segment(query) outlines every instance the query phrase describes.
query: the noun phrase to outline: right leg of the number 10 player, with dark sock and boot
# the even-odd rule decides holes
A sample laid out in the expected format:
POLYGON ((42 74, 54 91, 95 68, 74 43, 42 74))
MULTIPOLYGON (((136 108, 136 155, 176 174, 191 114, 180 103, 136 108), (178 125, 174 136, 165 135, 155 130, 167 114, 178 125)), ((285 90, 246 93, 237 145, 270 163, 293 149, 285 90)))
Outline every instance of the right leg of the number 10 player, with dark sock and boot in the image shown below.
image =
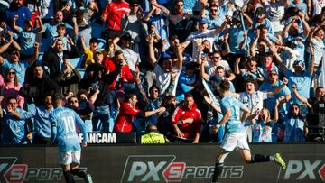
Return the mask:
POLYGON ((72 151, 72 163, 71 163, 71 173, 84 179, 86 182, 91 183, 92 178, 83 169, 79 169, 81 151, 72 151))

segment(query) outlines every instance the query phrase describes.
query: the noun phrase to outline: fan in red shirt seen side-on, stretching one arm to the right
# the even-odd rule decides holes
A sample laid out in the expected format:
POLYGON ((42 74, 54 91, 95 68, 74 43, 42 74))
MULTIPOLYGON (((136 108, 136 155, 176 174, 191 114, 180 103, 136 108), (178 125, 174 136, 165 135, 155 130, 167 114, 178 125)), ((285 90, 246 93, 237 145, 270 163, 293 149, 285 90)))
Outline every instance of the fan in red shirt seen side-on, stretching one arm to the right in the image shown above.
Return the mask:
POLYGON ((126 95, 125 103, 121 105, 120 111, 117 114, 116 124, 114 128, 115 132, 129 133, 132 130, 132 122, 135 117, 149 117, 157 113, 162 114, 166 110, 165 107, 159 107, 156 110, 144 112, 135 107, 137 102, 138 100, 135 94, 130 93, 126 95))

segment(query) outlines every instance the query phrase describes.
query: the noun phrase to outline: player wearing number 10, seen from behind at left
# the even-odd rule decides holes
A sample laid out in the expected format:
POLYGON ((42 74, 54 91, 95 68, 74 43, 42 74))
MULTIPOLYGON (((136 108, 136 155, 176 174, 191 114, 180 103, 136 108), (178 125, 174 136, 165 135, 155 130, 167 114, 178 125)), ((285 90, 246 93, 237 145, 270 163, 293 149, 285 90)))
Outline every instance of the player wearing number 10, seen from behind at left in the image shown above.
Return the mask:
POLYGON ((49 115, 49 120, 52 125, 51 142, 55 142, 56 139, 59 142, 59 160, 64 178, 68 183, 75 182, 73 175, 77 175, 88 183, 92 182, 91 176, 79 169, 81 147, 76 124, 83 134, 81 145, 87 147, 87 131, 84 122, 72 109, 63 107, 62 100, 61 96, 55 96, 52 100, 55 109, 49 115))

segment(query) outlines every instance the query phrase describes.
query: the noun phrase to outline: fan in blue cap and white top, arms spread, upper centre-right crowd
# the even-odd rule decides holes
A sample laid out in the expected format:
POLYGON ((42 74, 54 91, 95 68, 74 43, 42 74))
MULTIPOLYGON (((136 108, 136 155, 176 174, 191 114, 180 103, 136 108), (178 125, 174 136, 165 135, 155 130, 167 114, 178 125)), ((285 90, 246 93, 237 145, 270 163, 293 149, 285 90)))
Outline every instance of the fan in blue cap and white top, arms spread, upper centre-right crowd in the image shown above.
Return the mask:
POLYGON ((189 46, 190 42, 193 45, 192 58, 198 58, 200 46, 203 40, 208 40, 210 45, 213 45, 215 36, 222 32, 228 24, 228 21, 222 23, 221 27, 218 29, 208 30, 209 19, 200 18, 199 20, 199 30, 196 32, 191 32, 189 37, 186 38, 184 42, 181 43, 183 49, 189 46))

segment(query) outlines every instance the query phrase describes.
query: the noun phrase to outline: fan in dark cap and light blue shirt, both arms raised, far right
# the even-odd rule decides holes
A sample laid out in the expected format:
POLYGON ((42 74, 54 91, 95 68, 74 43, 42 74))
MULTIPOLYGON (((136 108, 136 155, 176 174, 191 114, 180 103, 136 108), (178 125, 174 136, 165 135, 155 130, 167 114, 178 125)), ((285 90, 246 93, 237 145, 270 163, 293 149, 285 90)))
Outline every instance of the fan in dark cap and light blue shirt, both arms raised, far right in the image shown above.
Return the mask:
MULTIPOLYGON (((286 68, 281 58, 277 59, 284 76, 289 80, 289 87, 296 85, 297 92, 305 98, 310 98, 311 78, 314 72, 314 51, 311 43, 309 45, 309 50, 311 53, 311 60, 309 61, 310 65, 307 70, 305 69, 305 62, 303 60, 295 60, 293 62, 294 71, 292 72, 292 70, 286 68)), ((304 106, 302 101, 294 95, 292 96, 291 104, 301 105, 302 114, 308 113, 306 106, 304 106)))

